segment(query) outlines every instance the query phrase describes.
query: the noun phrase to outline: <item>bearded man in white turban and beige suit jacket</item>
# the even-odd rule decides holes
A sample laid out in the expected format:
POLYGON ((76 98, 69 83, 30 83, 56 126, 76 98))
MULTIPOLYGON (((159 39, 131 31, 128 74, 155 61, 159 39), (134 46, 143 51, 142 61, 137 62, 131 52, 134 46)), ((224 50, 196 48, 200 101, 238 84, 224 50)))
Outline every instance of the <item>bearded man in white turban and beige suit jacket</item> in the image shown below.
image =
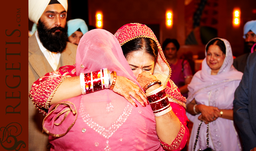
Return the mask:
MULTIPOLYGON (((46 73, 75 64, 77 45, 67 42, 66 14, 67 0, 28 0, 28 18, 38 28, 28 38, 28 92, 32 83, 46 73)), ((28 101, 28 148, 50 150, 48 135, 42 134, 44 115, 30 98, 28 101)))

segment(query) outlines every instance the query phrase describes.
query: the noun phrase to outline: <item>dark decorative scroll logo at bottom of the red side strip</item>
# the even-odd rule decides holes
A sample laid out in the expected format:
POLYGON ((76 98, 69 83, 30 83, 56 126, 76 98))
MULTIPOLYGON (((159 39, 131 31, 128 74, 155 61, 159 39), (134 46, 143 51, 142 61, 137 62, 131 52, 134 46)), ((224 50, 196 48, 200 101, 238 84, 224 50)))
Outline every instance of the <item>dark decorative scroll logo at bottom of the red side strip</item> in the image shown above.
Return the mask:
POLYGON ((20 150, 20 147, 26 147, 26 144, 22 140, 17 140, 17 136, 19 136, 22 132, 22 127, 19 123, 13 122, 8 124, 6 127, 1 127, 0 131, 3 132, 3 137, 0 138, 1 146, 5 150, 20 150))

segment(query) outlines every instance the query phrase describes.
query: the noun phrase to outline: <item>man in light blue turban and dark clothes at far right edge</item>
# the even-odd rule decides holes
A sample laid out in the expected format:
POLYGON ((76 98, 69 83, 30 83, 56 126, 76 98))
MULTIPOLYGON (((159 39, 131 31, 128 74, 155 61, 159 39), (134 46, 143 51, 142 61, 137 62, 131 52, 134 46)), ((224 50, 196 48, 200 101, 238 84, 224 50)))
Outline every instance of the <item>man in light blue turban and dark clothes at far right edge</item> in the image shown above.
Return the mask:
POLYGON ((243 38, 245 39, 245 53, 234 59, 234 67, 241 72, 244 72, 246 60, 251 52, 251 48, 256 43, 256 20, 251 20, 245 23, 243 27, 243 38))

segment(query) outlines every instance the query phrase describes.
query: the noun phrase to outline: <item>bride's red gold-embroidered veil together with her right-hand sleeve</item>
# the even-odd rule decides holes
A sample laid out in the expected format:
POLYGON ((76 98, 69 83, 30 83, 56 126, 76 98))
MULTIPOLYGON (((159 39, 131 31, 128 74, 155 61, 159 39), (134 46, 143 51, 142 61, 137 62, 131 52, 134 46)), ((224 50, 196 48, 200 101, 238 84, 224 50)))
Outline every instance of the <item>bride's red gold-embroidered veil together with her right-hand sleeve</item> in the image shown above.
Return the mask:
MULTIPOLYGON (((133 39, 140 38, 140 37, 152 39, 157 44, 158 56, 157 56, 156 61, 154 62, 153 75, 158 80, 161 81, 162 85, 164 85, 164 90, 168 96, 170 105, 172 106, 172 111, 174 112, 174 114, 177 116, 177 118, 179 119, 179 121, 182 124, 179 134, 177 135, 176 139, 173 141, 173 143, 171 145, 172 147, 168 146, 168 144, 166 144, 164 142, 161 142, 161 144, 165 149, 181 150, 185 146, 187 139, 189 137, 189 130, 187 128, 187 122, 189 120, 188 120, 187 116, 185 115, 186 98, 181 95, 178 87, 170 79, 172 70, 166 61, 166 58, 162 51, 162 48, 161 48, 155 34, 146 25, 139 24, 139 23, 131 23, 131 24, 126 24, 126 25, 122 26, 121 28, 119 28, 114 35, 117 38, 117 40, 119 41, 120 45, 122 46, 123 52, 124 52, 123 46, 125 46, 126 43, 129 43, 129 41, 132 41, 133 39)), ((128 46, 128 47, 130 47, 130 46, 128 46)), ((143 87, 143 85, 141 85, 141 87, 143 87)))

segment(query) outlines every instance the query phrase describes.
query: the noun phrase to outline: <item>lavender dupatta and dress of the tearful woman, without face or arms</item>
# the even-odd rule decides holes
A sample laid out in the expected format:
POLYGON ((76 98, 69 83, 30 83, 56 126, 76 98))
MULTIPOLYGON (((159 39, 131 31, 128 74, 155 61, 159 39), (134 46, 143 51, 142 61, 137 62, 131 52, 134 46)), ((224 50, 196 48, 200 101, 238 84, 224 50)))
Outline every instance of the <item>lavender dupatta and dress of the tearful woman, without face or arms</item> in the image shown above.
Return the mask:
MULTIPOLYGON (((195 98, 197 104, 215 106, 219 109, 233 108, 234 92, 238 87, 243 74, 237 71, 232 65, 233 56, 230 43, 226 39, 217 39, 224 41, 226 46, 226 57, 224 62, 218 74, 211 75, 211 69, 206 63, 206 58, 203 60, 202 70, 198 71, 193 76, 191 83, 188 85, 189 94, 186 104, 190 103, 195 98)), ((192 150, 194 146, 197 127, 200 122, 198 120, 199 115, 201 114, 193 116, 187 113, 189 120, 194 123, 188 150, 192 150)), ((238 139, 233 120, 217 118, 215 121, 209 123, 209 133, 209 147, 215 151, 241 150, 240 141, 238 139)), ((202 150, 206 148, 205 123, 202 123, 201 125, 199 140, 195 150, 198 150, 199 148, 202 150)))

